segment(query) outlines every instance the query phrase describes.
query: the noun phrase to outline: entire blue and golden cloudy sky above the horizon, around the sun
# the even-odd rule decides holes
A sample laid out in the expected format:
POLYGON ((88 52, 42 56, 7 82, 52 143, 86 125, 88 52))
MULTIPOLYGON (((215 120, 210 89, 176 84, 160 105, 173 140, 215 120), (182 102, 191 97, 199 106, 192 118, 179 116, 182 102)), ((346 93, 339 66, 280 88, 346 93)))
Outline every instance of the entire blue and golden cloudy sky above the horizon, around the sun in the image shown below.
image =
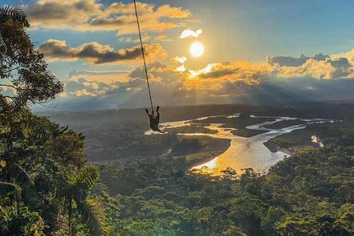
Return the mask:
MULTIPOLYGON (((0 0, 64 83, 53 107, 148 107, 132 1, 0 0)), ((354 99, 352 0, 137 2, 155 105, 354 99), (190 53, 199 42, 200 57, 190 53)), ((197 53, 198 53, 197 52, 197 53)))

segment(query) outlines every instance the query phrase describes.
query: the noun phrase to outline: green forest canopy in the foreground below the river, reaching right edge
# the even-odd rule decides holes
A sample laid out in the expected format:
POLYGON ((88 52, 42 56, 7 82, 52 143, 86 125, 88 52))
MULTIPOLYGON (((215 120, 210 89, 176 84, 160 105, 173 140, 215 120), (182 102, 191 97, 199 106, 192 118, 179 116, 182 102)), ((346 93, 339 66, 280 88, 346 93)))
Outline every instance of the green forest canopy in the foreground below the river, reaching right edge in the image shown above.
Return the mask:
POLYGON ((354 129, 343 132, 263 176, 251 168, 239 176, 231 168, 222 177, 196 175, 184 171, 185 159, 169 156, 101 165, 104 191, 96 200, 112 232, 126 236, 351 236, 354 129))

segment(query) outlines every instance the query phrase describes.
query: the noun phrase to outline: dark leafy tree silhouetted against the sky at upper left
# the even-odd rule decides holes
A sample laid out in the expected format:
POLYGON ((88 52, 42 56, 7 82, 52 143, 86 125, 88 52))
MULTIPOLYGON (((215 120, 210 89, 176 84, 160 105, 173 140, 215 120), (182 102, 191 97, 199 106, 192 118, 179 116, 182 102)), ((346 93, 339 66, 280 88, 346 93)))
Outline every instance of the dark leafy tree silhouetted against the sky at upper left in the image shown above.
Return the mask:
POLYGON ((26 14, 17 8, 0 8, 0 111, 46 103, 63 91, 47 72, 44 55, 34 49, 25 28, 26 14), (6 89, 5 89, 6 88, 6 89))

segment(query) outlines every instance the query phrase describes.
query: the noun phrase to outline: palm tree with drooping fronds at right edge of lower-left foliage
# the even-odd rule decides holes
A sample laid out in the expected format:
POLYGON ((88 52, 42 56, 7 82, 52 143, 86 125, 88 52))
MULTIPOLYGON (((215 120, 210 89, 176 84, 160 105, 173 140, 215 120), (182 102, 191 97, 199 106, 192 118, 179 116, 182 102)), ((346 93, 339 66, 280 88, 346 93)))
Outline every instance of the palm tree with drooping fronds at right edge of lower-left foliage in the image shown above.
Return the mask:
POLYGON ((61 170, 58 173, 58 188, 56 200, 68 210, 68 236, 73 236, 72 218, 74 205, 81 219, 88 226, 92 236, 107 236, 108 231, 104 225, 104 215, 92 200, 88 198, 89 190, 99 177, 96 166, 82 168, 76 173, 61 170))

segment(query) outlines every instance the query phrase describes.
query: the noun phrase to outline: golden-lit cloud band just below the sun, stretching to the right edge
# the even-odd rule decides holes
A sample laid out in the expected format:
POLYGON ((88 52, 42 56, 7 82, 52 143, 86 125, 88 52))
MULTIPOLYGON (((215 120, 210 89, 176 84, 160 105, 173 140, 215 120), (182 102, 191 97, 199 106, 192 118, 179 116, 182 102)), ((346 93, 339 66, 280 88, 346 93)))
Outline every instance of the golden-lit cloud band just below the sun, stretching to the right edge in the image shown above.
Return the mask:
MULTIPOLYGON (((178 66, 169 66, 158 61, 149 63, 148 77, 151 82, 159 85, 175 85, 179 92, 181 90, 190 92, 199 91, 202 93, 207 92, 210 96, 224 96, 235 92, 227 88, 231 85, 237 85, 238 88, 242 87, 246 89, 249 88, 248 86, 267 85, 270 81, 283 85, 289 79, 294 79, 294 81, 296 79, 300 81, 300 78, 329 80, 350 78, 353 76, 353 65, 347 58, 339 57, 332 59, 326 56, 324 60, 321 60, 324 56, 320 57, 319 55, 321 54, 311 57, 298 57, 309 58, 299 66, 280 66, 278 63, 269 63, 269 60, 267 60, 267 63, 251 63, 249 61, 236 60, 209 63, 199 69, 189 68, 186 64, 186 57, 176 56, 171 60, 179 64, 178 66), (319 60, 315 60, 314 58, 319 60)), ((289 59, 287 60, 290 61, 289 59)), ((293 62, 290 64, 293 64, 293 62)), ((145 70, 142 66, 134 68, 130 73, 124 74, 124 76, 128 78, 126 81, 139 79, 145 83, 146 80, 145 70)), ((144 83, 141 89, 144 89, 144 83)), ((292 86, 295 86, 295 84, 292 86)), ((302 89, 314 91, 316 87, 307 84, 303 85, 302 89)), ((236 91, 237 93, 242 92, 239 89, 236 91)))

